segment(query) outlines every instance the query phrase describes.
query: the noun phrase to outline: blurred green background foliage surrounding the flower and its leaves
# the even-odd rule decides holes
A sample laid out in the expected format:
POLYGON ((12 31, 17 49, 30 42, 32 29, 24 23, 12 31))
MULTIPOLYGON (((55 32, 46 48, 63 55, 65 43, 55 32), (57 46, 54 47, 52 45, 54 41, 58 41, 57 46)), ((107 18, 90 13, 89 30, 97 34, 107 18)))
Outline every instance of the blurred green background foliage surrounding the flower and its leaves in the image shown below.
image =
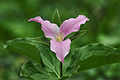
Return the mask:
MULTIPOLYGON (((87 33, 72 43, 74 48, 99 42, 120 49, 120 0, 0 0, 0 42, 43 35, 40 24, 27 20, 41 16, 52 21, 55 9, 62 22, 79 14, 90 19, 81 26, 87 33)), ((0 80, 20 80, 25 61, 22 55, 0 53, 0 80)), ((74 80, 120 80, 120 63, 82 72, 74 80)))

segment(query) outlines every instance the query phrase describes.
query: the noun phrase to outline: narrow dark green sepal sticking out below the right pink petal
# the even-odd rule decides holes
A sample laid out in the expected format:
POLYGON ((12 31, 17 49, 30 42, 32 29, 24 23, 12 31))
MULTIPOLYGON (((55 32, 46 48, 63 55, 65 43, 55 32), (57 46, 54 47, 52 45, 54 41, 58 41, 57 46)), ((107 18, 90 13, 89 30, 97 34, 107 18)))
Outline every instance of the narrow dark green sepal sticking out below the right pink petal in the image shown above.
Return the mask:
POLYGON ((75 40, 76 38, 81 37, 87 32, 87 30, 79 30, 78 32, 74 32, 69 34, 65 39, 70 38, 71 40, 75 40))

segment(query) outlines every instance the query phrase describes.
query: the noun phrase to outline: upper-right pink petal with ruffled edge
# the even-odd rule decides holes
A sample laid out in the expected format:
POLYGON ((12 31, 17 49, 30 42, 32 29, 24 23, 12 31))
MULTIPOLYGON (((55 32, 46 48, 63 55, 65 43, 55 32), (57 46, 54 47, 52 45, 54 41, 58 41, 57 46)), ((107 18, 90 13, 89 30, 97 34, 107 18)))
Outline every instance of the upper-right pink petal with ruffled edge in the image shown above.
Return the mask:
POLYGON ((72 33, 77 32, 80 29, 80 25, 84 24, 89 19, 84 15, 79 15, 77 18, 70 18, 65 20, 60 26, 60 32, 64 33, 64 38, 72 33))

